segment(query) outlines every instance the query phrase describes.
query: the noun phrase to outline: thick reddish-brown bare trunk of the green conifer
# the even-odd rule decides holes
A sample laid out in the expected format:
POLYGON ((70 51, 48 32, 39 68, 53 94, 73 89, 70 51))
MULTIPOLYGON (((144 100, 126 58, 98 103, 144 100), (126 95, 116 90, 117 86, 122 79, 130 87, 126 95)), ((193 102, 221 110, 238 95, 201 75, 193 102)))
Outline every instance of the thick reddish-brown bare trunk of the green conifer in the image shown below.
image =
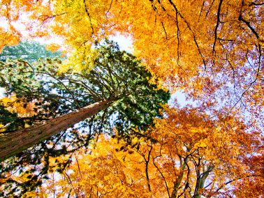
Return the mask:
POLYGON ((15 132, 0 134, 0 162, 52 137, 52 135, 56 135, 62 130, 66 130, 75 123, 97 114, 101 110, 109 107, 112 101, 113 100, 103 100, 95 102, 75 112, 51 119, 46 123, 33 125, 30 128, 17 130, 15 132))

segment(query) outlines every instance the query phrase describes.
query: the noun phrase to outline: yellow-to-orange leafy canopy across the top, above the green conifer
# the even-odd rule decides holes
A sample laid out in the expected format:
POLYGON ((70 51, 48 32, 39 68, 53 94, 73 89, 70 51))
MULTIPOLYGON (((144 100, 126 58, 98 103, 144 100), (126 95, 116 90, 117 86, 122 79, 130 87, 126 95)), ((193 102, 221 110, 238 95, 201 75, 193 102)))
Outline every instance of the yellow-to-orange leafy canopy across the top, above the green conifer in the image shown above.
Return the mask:
POLYGON ((226 112, 262 112, 261 1, 5 1, 10 44, 21 37, 15 28, 20 6, 28 12, 29 36, 59 36, 75 59, 101 38, 122 33, 168 88, 210 101, 214 109, 221 101, 226 112))

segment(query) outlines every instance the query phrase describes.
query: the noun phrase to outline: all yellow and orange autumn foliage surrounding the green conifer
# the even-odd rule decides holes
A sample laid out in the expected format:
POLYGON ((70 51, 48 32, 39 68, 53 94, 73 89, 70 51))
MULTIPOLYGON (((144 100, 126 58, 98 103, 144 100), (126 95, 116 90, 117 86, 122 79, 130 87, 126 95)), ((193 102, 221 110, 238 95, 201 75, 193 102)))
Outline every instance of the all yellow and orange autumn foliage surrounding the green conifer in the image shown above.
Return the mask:
MULTIPOLYGON (((6 0, 0 20, 0 51, 25 38, 59 40, 47 46, 67 54, 56 75, 90 71, 98 43, 129 37, 149 82, 193 103, 171 102, 144 131, 97 135, 27 196, 263 196, 263 1, 6 0)), ((31 105, 13 104, 17 114, 31 105)))

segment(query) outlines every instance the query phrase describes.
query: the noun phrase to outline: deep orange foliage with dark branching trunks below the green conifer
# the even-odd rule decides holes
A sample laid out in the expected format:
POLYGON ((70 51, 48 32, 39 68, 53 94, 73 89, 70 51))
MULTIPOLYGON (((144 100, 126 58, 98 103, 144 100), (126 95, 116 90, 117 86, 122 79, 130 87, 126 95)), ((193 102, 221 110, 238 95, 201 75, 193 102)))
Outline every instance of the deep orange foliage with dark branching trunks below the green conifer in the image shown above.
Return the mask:
POLYGON ((199 108, 166 107, 151 137, 124 142, 106 135, 75 153, 63 174, 50 174, 33 195, 75 197, 258 197, 263 195, 259 132, 234 117, 210 119, 199 108), (187 184, 188 183, 188 184, 187 184))

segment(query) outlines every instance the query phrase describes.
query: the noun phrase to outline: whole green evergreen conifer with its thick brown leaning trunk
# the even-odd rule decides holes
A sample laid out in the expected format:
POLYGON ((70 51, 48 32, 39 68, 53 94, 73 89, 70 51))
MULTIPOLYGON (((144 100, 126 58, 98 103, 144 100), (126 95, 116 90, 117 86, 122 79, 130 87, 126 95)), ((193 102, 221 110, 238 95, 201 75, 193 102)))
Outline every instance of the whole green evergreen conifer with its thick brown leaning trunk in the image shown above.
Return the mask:
POLYGON ((129 137, 145 135, 133 129, 144 131, 159 116, 161 104, 170 95, 149 84, 152 75, 140 61, 110 41, 96 46, 95 52, 92 70, 87 66, 82 71, 60 73, 58 59, 1 63, 0 86, 6 89, 6 96, 15 94, 21 105, 33 102, 35 106, 34 115, 25 118, 10 112, 12 103, 9 107, 1 105, 0 121, 6 128, 0 135, 0 153, 12 150, 13 139, 21 144, 16 151, 1 155, 1 160, 14 155, 1 163, 2 195, 22 195, 36 189, 50 169, 61 172, 78 148, 88 146, 102 132, 111 134, 114 127, 131 144, 129 137), (95 111, 84 112, 95 106, 95 111), (57 127, 61 123, 66 125, 57 127), (39 137, 35 129, 43 126, 38 133, 45 135, 39 137), (27 144, 29 139, 34 141, 27 144), (50 164, 58 156, 64 157, 50 164), (14 172, 26 174, 27 179, 18 182, 7 174, 14 172))

